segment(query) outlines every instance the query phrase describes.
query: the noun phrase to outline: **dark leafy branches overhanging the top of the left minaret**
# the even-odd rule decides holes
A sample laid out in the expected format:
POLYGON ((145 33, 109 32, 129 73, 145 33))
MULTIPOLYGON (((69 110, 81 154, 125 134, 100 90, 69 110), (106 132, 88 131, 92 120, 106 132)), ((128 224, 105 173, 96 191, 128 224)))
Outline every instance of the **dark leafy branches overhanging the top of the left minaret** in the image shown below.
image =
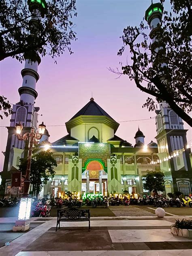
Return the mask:
POLYGON ((70 48, 72 40, 76 40, 73 31, 73 16, 77 16, 75 0, 41 0, 43 18, 31 13, 28 4, 38 4, 37 0, 1 0, 0 9, 0 60, 7 57, 38 60, 46 54, 52 58, 70 48), (36 22, 29 22, 30 19, 36 22), (35 31, 35 33, 34 33, 35 31), (35 36, 37 35, 37 36, 35 36))

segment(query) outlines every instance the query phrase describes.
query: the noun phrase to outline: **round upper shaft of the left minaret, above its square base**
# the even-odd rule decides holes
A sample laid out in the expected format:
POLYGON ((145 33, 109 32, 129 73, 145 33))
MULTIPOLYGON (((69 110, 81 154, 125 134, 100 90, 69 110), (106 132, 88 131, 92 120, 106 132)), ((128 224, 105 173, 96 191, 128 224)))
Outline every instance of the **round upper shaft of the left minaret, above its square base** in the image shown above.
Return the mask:
MULTIPOLYGON (((34 17, 32 17, 32 19, 29 21, 30 27, 32 28, 35 22, 41 22, 41 18, 44 16, 46 10, 46 2, 45 0, 28 0, 28 6, 32 16, 34 14, 34 17)), ((30 38, 33 38, 33 36, 38 35, 35 31, 32 30, 29 36, 30 38)), ((21 70, 23 83, 18 91, 20 95, 20 101, 23 102, 23 104, 34 104, 34 100, 38 96, 38 93, 36 92, 36 82, 39 79, 37 70, 38 65, 41 62, 41 58, 36 52, 32 54, 36 54, 38 60, 36 62, 31 62, 28 60, 28 56, 26 54, 25 67, 21 70)))

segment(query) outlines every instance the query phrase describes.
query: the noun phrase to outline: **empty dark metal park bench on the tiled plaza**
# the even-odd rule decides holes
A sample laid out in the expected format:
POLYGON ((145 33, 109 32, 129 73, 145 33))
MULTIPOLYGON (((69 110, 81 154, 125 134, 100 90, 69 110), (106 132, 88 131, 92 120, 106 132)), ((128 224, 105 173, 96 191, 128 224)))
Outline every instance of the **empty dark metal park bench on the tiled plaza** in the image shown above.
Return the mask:
POLYGON ((81 222, 81 221, 88 221, 89 222, 89 231, 90 227, 90 209, 77 209, 77 208, 70 208, 70 209, 58 209, 58 217, 57 217, 57 226, 56 230, 60 228, 60 222, 81 222))

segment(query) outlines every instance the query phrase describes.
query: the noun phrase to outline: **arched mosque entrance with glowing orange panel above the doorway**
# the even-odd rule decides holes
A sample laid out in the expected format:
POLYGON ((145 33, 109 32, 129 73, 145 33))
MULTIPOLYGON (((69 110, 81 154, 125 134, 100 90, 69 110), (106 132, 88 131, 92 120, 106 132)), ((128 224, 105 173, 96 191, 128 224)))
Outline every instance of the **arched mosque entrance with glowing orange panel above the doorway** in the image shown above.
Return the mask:
POLYGON ((104 194, 107 191, 104 167, 98 160, 91 160, 86 165, 86 192, 91 194, 104 194), (103 178, 103 179, 102 179, 103 178))

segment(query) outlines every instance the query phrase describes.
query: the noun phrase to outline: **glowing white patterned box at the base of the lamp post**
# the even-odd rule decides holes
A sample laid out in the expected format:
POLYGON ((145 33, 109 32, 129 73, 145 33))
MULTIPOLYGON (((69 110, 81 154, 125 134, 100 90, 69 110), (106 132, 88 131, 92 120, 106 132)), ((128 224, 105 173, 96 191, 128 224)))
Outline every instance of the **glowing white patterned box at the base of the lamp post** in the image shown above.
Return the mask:
POLYGON ((31 200, 30 197, 21 198, 19 205, 19 217, 18 220, 29 220, 31 211, 31 200))

